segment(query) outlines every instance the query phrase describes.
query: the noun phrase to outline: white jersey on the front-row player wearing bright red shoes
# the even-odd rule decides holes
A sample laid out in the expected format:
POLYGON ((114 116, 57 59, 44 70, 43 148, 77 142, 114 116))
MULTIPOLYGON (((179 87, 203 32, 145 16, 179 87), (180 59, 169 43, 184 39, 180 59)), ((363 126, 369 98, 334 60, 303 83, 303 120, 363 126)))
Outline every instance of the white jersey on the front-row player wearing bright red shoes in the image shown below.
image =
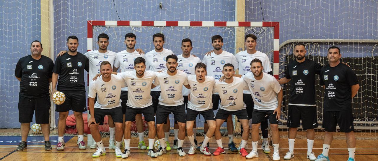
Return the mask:
POLYGON ((246 105, 243 102, 243 90, 248 89, 248 85, 243 78, 234 77, 234 81, 230 84, 216 81, 213 90, 219 93, 221 100, 219 104, 220 109, 238 111, 246 109, 246 105))

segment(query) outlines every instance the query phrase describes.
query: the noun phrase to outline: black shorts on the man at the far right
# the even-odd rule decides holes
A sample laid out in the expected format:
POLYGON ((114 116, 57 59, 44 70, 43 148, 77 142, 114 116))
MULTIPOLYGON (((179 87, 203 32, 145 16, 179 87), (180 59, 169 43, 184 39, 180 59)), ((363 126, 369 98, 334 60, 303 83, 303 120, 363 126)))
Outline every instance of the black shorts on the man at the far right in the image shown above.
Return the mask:
POLYGON ((323 111, 322 128, 328 132, 336 131, 339 125, 341 132, 354 131, 352 109, 344 111, 323 111))

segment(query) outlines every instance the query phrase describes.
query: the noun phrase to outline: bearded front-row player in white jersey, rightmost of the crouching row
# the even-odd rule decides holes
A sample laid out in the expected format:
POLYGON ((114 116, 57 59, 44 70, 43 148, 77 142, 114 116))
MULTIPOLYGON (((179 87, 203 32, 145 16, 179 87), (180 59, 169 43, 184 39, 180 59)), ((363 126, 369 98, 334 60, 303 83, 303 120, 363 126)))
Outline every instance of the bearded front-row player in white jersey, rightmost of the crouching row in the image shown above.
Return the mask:
POLYGON ((263 66, 260 59, 251 61, 251 72, 245 74, 243 79, 248 84, 249 91, 254 101, 252 112, 252 151, 247 159, 259 157, 257 144, 259 143, 259 126, 268 115, 273 140, 273 160, 279 160, 279 131, 278 119, 281 113, 283 91, 274 76, 262 72, 263 66))

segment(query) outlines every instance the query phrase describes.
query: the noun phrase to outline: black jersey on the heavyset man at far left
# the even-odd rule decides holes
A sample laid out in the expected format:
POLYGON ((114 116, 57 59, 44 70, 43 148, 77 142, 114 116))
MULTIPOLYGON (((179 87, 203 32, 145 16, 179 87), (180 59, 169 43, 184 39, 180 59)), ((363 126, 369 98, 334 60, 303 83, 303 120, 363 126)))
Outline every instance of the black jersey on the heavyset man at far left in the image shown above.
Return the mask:
POLYGON ((14 75, 21 78, 20 96, 39 98, 49 95, 50 82, 54 62, 42 55, 39 60, 31 55, 22 57, 16 65, 14 75))

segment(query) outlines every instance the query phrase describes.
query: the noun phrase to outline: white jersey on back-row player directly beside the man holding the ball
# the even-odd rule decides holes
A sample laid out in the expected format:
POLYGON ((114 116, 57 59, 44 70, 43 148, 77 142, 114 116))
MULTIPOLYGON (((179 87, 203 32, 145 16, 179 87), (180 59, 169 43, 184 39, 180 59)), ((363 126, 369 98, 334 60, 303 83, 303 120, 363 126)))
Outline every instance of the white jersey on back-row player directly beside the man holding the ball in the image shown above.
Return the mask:
MULTIPOLYGON (((93 79, 96 74, 100 73, 100 65, 103 61, 110 62, 110 65, 114 65, 117 53, 107 50, 105 53, 100 53, 98 50, 91 50, 84 54, 89 59, 89 80, 93 79)), ((119 66, 115 66, 119 67, 119 66)))

